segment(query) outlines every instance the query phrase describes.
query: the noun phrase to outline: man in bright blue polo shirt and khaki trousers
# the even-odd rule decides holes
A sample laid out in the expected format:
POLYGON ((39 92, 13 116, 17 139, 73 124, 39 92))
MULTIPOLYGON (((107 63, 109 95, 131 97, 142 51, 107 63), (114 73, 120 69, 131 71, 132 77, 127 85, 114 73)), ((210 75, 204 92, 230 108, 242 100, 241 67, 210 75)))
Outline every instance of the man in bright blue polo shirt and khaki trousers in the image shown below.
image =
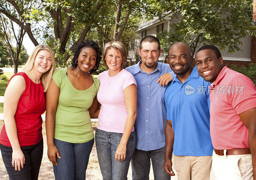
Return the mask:
POLYGON ((165 91, 164 170, 178 179, 210 179, 212 141, 210 137, 209 82, 190 64, 191 50, 186 43, 174 43, 169 51, 170 67, 177 75, 165 91))

